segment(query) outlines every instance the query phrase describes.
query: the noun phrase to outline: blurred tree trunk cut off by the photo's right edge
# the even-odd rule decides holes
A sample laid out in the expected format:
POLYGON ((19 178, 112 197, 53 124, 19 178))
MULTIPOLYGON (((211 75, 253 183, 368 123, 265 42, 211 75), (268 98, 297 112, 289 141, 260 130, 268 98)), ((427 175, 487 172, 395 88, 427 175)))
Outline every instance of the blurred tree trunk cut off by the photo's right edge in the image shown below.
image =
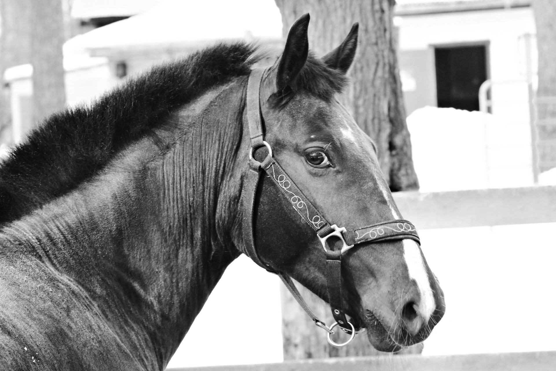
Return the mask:
POLYGON ((556 2, 533 0, 539 51, 537 90, 538 165, 540 171, 556 167, 556 2))

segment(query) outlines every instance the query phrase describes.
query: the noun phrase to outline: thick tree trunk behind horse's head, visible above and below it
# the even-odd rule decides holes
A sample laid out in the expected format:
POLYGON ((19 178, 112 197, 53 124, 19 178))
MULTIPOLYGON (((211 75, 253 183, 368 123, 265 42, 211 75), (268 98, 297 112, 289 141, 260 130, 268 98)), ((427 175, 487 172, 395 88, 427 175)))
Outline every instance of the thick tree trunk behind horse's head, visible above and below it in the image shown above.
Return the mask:
MULTIPOLYGON (((284 37, 297 18, 311 14, 309 46, 317 55, 325 55, 337 47, 351 25, 359 22, 358 55, 350 69, 351 85, 341 97, 342 103, 375 141, 380 167, 390 189, 418 189, 396 56, 392 24, 394 0, 275 1, 282 14, 284 37)), ((309 290, 298 287, 317 316, 327 324, 333 323, 330 307, 309 290)), ((326 341, 324 330, 315 326, 285 287, 281 290, 284 359, 380 353, 371 347, 365 334, 357 335, 347 347, 332 347, 326 341)), ((420 353, 422 349, 422 345, 417 345, 402 353, 420 353)))

